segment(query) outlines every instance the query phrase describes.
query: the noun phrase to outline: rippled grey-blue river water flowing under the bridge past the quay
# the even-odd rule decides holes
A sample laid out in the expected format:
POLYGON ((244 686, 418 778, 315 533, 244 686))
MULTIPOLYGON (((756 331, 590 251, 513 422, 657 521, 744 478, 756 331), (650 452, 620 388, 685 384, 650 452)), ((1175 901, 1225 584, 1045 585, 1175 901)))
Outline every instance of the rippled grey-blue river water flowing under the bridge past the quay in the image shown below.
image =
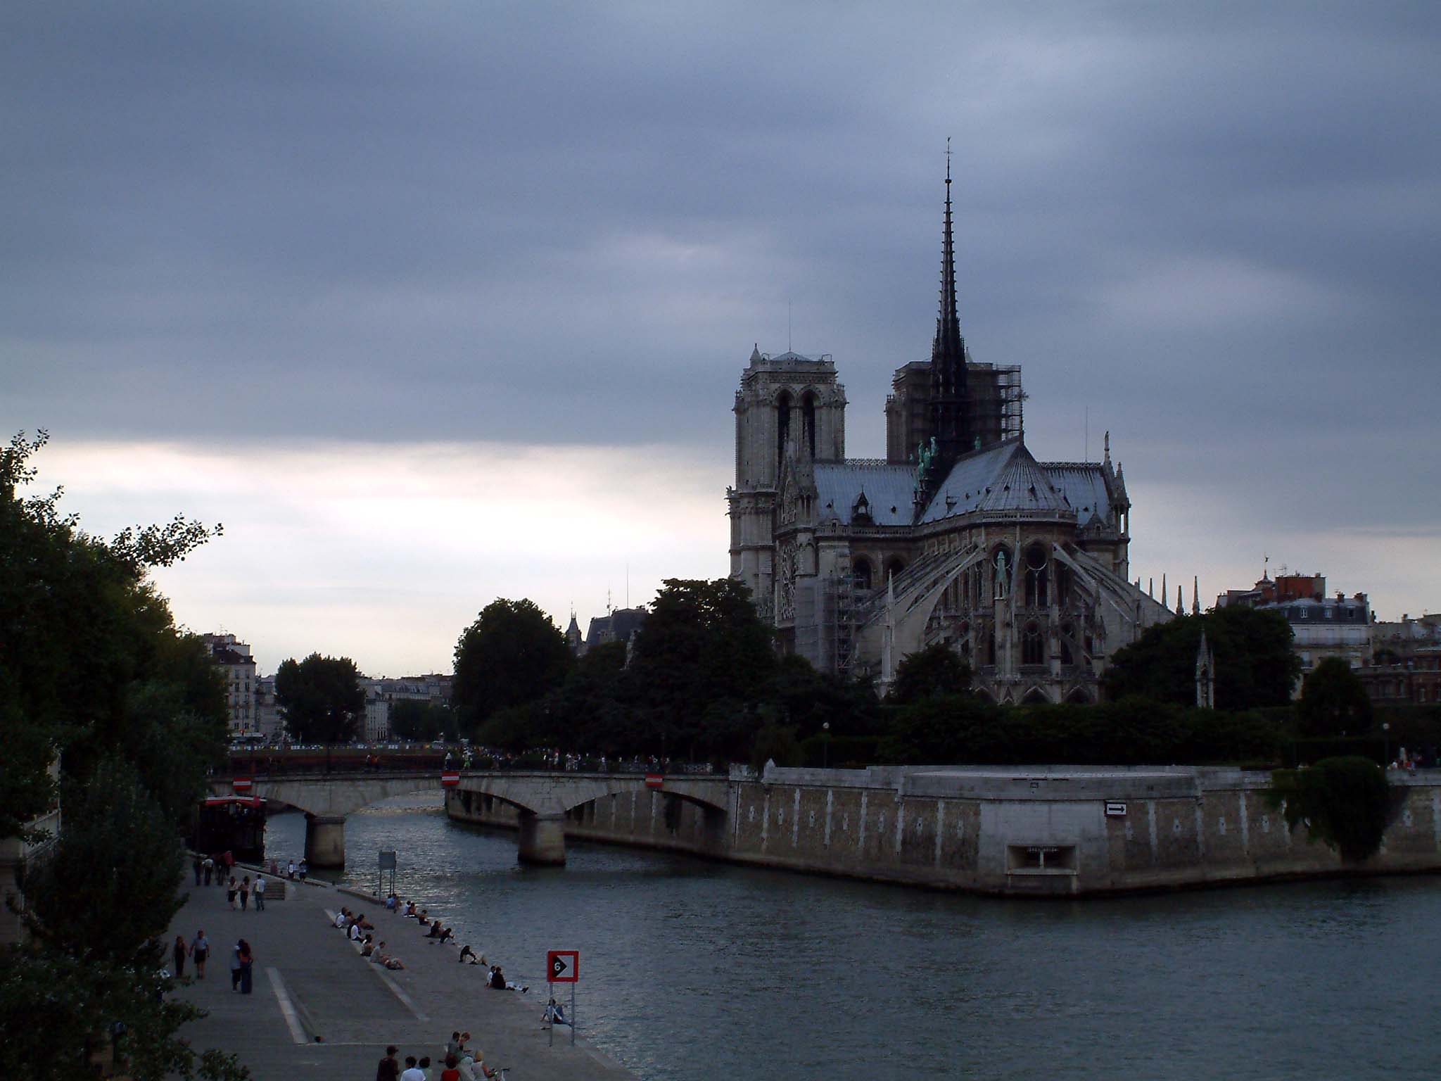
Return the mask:
MULTIPOLYGON (((298 856, 304 817, 267 840, 298 856)), ((370 888, 396 849, 399 892, 532 995, 579 950, 582 1035, 656 1081, 1441 1075, 1438 879, 1016 902, 578 843, 519 869, 432 797, 346 846, 370 888)))

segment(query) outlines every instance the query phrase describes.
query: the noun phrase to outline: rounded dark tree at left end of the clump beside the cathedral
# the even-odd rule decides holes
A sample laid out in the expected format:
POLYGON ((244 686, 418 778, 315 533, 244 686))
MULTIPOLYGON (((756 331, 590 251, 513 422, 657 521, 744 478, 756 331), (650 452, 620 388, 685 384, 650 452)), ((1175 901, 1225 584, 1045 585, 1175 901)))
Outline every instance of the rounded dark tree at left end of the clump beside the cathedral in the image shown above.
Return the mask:
POLYGON ((496 598, 455 643, 452 700, 465 731, 497 709, 526 705, 561 686, 571 649, 533 601, 496 598))

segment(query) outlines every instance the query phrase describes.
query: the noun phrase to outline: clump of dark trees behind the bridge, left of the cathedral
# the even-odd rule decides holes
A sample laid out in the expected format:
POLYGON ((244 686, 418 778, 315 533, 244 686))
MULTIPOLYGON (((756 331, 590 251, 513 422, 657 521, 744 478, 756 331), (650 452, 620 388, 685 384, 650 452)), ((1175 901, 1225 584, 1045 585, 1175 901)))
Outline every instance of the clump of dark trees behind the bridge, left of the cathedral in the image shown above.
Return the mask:
POLYGON ((509 751, 722 762, 749 758, 768 728, 873 735, 879 718, 869 685, 778 657, 729 578, 667 579, 630 650, 579 660, 532 601, 493 601, 455 644, 454 702, 464 731, 509 751))

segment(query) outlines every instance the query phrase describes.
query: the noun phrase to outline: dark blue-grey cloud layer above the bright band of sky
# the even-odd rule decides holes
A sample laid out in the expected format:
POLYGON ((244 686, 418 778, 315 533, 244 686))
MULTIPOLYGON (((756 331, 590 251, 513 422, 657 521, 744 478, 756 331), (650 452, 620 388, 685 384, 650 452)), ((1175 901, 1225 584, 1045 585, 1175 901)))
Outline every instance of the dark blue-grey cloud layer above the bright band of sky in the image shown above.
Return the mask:
POLYGON ((1089 408, 1172 480, 1401 513, 1368 479, 1441 405, 1441 16, 1262 9, 9 4, 0 414, 726 454, 790 301, 876 453, 954 135, 963 326, 1038 453, 1089 408))

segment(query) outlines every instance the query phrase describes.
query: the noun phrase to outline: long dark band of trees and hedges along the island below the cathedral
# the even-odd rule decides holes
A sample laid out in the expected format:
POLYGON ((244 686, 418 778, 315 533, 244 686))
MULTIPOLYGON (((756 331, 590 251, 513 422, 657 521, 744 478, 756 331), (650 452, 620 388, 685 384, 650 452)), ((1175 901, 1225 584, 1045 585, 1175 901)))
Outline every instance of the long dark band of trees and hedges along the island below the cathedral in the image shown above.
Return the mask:
MULTIPOLYGON (((1284 620, 1235 608, 1173 620, 1118 650, 1098 705, 994 705, 945 646, 902 660, 880 700, 869 682, 778 656, 744 585, 672 579, 630 647, 605 643, 579 660, 530 601, 487 605, 455 647, 455 721, 522 757, 553 748, 716 765, 1380 761, 1380 718, 1340 667, 1319 666, 1293 705, 1298 662, 1284 620), (1195 708, 1202 633, 1219 709, 1195 708)), ((1418 748, 1435 742, 1419 718, 1402 728, 1418 748)))

